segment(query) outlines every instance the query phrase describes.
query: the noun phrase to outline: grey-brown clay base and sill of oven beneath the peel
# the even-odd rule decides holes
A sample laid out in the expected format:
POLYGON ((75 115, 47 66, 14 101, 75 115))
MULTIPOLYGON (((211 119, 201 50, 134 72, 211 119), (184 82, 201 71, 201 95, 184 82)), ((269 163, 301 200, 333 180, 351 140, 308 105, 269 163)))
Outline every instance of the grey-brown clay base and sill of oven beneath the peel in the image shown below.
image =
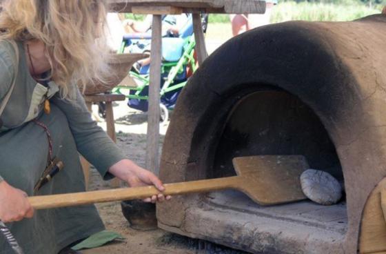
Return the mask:
POLYGON ((233 190, 192 202, 199 204, 185 210, 181 227, 161 222, 159 227, 252 253, 343 253, 345 204, 296 202, 264 207, 233 190))

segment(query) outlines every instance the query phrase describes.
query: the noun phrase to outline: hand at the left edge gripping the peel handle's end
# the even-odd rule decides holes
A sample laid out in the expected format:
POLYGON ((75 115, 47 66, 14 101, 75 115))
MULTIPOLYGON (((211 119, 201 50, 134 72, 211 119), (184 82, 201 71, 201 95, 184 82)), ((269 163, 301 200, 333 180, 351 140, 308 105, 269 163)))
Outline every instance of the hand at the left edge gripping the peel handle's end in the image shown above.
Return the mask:
POLYGON ((34 208, 27 199, 27 193, 13 188, 6 181, 0 182, 0 219, 2 222, 17 222, 32 218, 34 208))

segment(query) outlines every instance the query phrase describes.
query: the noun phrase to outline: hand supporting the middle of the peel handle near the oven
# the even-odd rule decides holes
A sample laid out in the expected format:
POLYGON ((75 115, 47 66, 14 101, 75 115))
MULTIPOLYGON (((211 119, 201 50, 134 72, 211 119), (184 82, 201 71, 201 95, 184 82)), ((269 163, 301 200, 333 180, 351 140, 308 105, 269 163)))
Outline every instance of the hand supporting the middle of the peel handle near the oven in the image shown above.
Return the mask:
MULTIPOLYGON (((119 179, 127 182, 130 187, 140 187, 154 185, 159 191, 165 190, 161 180, 153 173, 140 166, 134 164, 130 159, 122 159, 116 164, 112 165, 109 169, 112 175, 115 175, 119 179)), ((162 193, 143 199, 144 202, 162 202, 165 199, 171 199, 171 196, 164 196, 162 193)))

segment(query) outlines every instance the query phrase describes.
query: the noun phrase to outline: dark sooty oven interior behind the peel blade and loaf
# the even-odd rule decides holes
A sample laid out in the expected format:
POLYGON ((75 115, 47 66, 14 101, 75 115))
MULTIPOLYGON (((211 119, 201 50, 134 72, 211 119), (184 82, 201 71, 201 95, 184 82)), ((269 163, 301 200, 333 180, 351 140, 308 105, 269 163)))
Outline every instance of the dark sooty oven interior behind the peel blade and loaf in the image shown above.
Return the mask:
POLYGON ((227 92, 197 124, 188 164, 198 166, 199 172, 187 168, 186 179, 234 175, 233 157, 304 155, 310 168, 325 170, 343 182, 334 142, 302 99, 266 84, 235 87, 237 91, 227 92))

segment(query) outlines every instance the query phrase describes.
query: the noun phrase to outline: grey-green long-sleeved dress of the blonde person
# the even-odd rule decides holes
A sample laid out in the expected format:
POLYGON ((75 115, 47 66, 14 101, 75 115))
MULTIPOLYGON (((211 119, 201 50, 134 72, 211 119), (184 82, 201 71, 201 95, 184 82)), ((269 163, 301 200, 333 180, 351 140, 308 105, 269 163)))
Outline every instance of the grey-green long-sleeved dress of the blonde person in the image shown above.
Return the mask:
MULTIPOLYGON (((79 153, 93 164, 104 179, 112 178, 108 168, 125 156, 90 117, 78 91, 76 101, 61 99, 53 82, 37 84, 28 72, 26 52, 19 47, 19 64, 8 41, 0 41, 0 104, 16 78, 16 85, 1 115, 0 176, 15 188, 33 195, 34 185, 43 173, 48 158, 48 126, 53 141, 53 155, 64 168, 35 195, 79 192, 85 182, 79 153), (16 66, 18 65, 18 66, 16 66), (17 77, 16 68, 19 68, 17 77), (43 113, 43 101, 50 98, 51 113, 43 113), (78 153, 79 152, 79 153, 78 153)), ((1 206, 1 204, 0 204, 1 206)), ((7 224, 25 253, 58 253, 61 248, 102 231, 104 226, 91 205, 35 211, 32 219, 7 224)), ((0 235, 0 253, 14 253, 0 235)))

